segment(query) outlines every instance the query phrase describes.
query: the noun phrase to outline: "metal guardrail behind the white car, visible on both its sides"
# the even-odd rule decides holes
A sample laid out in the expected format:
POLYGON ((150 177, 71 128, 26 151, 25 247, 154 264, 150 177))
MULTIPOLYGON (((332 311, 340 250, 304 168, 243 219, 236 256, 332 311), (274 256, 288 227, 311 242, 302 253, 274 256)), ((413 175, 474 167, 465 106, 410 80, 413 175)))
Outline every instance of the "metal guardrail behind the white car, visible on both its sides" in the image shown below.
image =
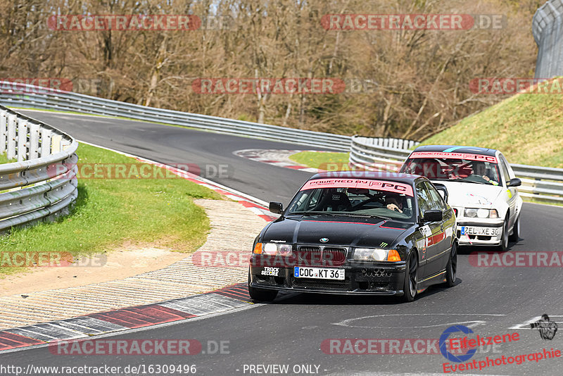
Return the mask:
MULTIPOLYGON (((374 146, 367 137, 352 137, 350 166, 365 170, 398 171, 410 150, 374 146)), ((522 181, 520 195, 547 203, 563 203, 563 168, 511 164, 522 181)))

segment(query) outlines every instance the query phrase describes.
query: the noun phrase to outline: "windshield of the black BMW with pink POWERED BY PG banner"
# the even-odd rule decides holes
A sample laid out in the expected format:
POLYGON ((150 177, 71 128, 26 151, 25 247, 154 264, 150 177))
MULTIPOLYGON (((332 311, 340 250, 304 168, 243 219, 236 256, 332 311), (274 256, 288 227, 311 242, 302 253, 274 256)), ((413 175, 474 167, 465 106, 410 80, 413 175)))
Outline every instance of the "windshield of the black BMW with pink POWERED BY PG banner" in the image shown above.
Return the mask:
MULTIPOLYGON (((317 182, 319 181, 323 180, 317 180, 317 182)), ((340 182, 341 180, 336 181, 340 182)), ((355 179, 347 181, 350 183, 333 185, 350 185, 350 187, 325 186, 313 188, 312 185, 315 184, 308 184, 315 182, 315 180, 310 180, 291 201, 285 215, 329 215, 350 218, 373 217, 386 220, 414 220, 415 199, 409 185, 389 183, 390 187, 384 187, 385 189, 377 186, 364 188, 368 185, 361 182, 375 181, 355 179), (360 181, 360 184, 357 184, 357 181, 360 181)), ((377 183, 379 185, 386 184, 385 182, 377 183)))

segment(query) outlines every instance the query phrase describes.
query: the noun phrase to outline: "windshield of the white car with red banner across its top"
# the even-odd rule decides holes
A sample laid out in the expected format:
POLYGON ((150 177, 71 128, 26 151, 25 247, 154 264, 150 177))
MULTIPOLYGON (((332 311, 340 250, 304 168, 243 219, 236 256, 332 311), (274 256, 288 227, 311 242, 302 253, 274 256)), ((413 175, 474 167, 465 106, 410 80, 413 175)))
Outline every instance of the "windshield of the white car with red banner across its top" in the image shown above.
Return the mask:
POLYGON ((430 180, 450 180, 476 184, 500 184, 495 157, 476 161, 464 158, 409 158, 401 173, 422 175, 430 180))

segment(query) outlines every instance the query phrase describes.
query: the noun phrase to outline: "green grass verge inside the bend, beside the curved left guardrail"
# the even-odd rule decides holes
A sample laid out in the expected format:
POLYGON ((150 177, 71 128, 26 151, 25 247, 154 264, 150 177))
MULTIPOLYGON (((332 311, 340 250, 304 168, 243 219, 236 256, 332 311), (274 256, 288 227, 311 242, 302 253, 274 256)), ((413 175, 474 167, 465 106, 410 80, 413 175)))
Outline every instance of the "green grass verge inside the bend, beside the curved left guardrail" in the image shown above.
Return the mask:
MULTIPOLYGON (((137 163, 134 158, 84 144, 77 153, 79 163, 137 163)), ((220 199, 216 192, 179 177, 80 179, 79 175, 78 182, 72 215, 57 223, 15 229, 0 237, 0 249, 87 255, 131 242, 190 252, 205 242, 210 228, 205 211, 193 199, 220 199)), ((21 270, 0 267, 0 274, 21 270)))

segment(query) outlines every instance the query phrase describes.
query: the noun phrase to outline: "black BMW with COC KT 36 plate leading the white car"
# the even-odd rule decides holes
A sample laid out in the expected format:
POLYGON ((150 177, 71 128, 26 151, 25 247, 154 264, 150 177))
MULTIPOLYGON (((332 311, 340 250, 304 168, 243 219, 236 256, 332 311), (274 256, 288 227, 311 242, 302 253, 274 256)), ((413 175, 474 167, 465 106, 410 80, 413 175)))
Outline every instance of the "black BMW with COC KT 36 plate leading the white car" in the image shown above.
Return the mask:
POLYGON ((336 171, 310 178, 256 237, 255 301, 279 291, 403 296, 455 283, 457 238, 448 192, 426 177, 336 171), (441 192, 440 192, 441 191, 441 192), (445 200, 446 199, 446 200, 445 200))

